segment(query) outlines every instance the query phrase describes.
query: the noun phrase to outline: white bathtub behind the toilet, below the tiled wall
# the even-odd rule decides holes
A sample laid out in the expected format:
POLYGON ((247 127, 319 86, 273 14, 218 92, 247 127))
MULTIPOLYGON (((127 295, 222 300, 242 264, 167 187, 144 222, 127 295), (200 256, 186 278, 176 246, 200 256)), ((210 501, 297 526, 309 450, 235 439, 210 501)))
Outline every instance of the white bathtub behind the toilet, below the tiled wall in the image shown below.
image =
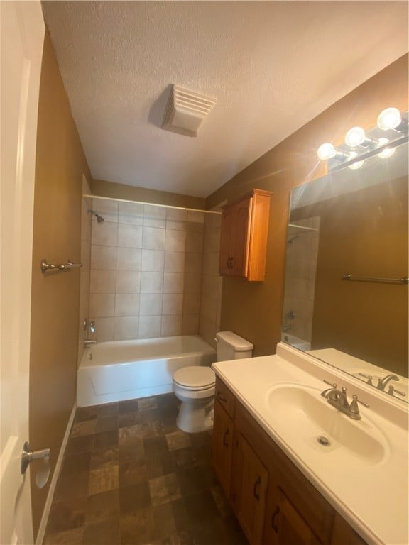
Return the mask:
POLYGON ((77 405, 166 394, 172 392, 175 370, 214 361, 216 352, 197 335, 98 343, 82 356, 77 405))

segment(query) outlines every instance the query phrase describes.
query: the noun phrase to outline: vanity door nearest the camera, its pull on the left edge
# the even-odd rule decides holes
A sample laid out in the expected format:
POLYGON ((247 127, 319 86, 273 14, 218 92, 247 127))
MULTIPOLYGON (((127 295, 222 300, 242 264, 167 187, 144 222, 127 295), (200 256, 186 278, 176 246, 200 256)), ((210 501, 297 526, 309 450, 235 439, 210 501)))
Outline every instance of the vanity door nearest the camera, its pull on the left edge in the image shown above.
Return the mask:
POLYGON ((269 545, 319 545, 315 534, 277 488, 269 491, 263 543, 269 545))

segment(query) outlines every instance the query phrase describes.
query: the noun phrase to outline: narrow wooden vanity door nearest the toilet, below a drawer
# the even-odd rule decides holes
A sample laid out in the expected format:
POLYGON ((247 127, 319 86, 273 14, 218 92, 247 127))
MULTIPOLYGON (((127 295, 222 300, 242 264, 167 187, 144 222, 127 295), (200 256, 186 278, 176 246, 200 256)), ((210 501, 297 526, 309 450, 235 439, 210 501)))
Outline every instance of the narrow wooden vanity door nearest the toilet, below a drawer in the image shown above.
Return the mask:
POLYGON ((214 402, 212 461, 219 482, 228 497, 230 496, 233 429, 233 421, 216 400, 214 402))

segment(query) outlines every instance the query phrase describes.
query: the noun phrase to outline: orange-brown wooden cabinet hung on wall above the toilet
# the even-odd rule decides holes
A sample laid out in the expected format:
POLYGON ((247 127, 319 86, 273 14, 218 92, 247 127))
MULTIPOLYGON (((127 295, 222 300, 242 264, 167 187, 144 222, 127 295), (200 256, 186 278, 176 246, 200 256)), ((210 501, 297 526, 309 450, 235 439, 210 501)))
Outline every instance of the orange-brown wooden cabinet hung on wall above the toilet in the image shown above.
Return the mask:
POLYGON ((223 207, 220 274, 264 280, 271 192, 253 189, 223 207))

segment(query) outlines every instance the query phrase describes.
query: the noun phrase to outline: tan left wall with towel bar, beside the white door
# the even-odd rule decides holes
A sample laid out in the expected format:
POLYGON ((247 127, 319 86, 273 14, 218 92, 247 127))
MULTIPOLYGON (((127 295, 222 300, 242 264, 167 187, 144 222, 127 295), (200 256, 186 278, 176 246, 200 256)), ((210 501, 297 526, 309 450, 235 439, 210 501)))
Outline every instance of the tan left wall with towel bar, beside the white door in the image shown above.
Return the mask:
MULTIPOLYGON (((38 106, 34 194, 30 363, 30 446, 60 451, 75 403, 80 271, 43 275, 40 260, 80 260, 82 174, 89 178, 77 128, 45 34, 38 106)), ((37 534, 48 485, 36 488, 31 471, 37 534)))

